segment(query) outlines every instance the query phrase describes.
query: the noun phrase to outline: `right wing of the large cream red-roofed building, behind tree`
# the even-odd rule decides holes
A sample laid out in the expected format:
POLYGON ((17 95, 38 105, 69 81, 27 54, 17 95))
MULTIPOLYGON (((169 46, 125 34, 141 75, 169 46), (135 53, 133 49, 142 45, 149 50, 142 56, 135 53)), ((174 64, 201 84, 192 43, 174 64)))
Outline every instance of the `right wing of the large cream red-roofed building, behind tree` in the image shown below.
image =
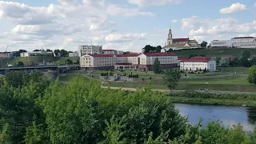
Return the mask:
POLYGON ((138 55, 138 69, 153 70, 155 59, 158 58, 161 69, 171 69, 178 66, 178 56, 173 53, 146 53, 138 55))

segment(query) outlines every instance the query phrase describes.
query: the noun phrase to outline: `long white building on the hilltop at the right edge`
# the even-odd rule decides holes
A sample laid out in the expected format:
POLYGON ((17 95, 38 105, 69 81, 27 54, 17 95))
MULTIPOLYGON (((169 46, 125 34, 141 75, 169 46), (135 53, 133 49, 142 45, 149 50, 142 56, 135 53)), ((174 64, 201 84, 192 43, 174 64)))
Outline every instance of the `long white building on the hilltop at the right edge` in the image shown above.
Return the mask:
POLYGON ((256 48, 256 38, 236 37, 230 40, 211 41, 211 48, 256 48))

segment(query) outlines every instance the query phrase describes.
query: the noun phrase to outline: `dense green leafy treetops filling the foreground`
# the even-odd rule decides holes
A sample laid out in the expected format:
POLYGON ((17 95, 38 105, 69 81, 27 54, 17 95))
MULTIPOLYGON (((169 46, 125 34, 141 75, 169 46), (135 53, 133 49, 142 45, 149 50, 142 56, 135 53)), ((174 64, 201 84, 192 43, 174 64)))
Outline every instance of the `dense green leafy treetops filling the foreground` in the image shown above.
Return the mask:
POLYGON ((76 77, 62 83, 40 72, 0 77, 0 143, 256 143, 254 131, 222 122, 191 126, 170 97, 146 88, 130 93, 102 89, 76 77))

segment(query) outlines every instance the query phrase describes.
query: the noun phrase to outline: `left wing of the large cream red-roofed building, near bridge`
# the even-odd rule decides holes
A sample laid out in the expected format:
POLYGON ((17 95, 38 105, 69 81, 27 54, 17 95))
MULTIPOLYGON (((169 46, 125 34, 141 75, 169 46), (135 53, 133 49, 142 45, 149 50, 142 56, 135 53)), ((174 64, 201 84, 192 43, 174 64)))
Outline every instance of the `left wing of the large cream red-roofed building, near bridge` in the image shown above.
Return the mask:
POLYGON ((86 54, 80 57, 82 70, 112 70, 115 64, 114 54, 86 54))

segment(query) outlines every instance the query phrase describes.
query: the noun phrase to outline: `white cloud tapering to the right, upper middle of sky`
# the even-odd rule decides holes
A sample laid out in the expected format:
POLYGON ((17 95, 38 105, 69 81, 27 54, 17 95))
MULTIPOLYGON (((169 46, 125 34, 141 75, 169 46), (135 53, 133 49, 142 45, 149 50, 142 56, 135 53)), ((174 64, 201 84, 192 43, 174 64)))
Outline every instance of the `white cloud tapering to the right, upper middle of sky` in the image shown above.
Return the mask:
POLYGON ((154 14, 150 12, 142 12, 142 11, 139 11, 138 9, 122 8, 118 5, 113 5, 113 4, 110 4, 108 6, 107 13, 110 15, 122 15, 126 17, 138 16, 138 15, 154 16, 154 14))

